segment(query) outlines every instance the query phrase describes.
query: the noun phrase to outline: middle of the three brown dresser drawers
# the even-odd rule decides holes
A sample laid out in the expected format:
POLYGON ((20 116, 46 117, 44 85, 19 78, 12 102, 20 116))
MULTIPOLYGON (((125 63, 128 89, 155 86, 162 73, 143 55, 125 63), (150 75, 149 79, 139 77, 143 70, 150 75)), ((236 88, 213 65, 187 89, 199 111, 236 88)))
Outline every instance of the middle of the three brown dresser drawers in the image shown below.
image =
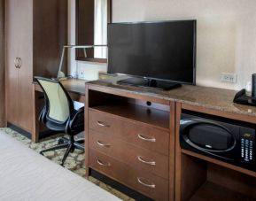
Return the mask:
POLYGON ((168 179, 168 157, 113 138, 111 135, 89 130, 89 148, 142 171, 168 179))

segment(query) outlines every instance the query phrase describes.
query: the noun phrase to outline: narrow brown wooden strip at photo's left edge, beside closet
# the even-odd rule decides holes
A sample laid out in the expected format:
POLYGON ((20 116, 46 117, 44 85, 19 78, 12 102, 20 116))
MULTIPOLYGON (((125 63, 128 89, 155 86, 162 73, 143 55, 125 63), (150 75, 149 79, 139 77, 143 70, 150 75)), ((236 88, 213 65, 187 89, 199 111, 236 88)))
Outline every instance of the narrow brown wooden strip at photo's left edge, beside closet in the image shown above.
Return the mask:
POLYGON ((5 126, 4 0, 0 0, 0 127, 5 126))

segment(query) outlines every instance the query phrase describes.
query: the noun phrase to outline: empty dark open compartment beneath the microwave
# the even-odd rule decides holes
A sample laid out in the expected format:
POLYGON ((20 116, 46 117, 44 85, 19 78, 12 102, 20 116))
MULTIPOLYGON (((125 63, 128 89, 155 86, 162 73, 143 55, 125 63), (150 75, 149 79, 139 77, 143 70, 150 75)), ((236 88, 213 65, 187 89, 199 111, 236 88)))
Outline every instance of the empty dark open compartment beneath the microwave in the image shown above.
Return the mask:
POLYGON ((256 200, 256 178, 182 153, 182 201, 256 200))

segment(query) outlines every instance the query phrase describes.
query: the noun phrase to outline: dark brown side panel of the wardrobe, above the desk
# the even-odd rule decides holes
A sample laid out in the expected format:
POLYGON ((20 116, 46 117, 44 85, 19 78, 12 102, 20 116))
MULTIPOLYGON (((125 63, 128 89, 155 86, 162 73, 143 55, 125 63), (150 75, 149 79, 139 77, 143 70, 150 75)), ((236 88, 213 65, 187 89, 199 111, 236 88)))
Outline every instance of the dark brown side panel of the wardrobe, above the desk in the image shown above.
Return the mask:
MULTIPOLYGON (((57 77, 62 47, 67 44, 67 0, 33 2, 34 76, 57 77)), ((62 71, 67 73, 66 57, 62 71)))

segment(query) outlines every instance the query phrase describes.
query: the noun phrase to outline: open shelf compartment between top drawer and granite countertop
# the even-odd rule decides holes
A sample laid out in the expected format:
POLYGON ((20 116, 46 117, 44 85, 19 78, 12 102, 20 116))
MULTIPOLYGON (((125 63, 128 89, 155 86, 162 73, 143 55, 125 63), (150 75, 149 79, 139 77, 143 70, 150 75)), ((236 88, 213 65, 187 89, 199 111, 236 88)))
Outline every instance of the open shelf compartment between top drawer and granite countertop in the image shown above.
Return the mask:
POLYGON ((120 118, 144 122, 169 131, 169 105, 120 97, 94 90, 89 91, 89 97, 89 110, 110 113, 120 118))

